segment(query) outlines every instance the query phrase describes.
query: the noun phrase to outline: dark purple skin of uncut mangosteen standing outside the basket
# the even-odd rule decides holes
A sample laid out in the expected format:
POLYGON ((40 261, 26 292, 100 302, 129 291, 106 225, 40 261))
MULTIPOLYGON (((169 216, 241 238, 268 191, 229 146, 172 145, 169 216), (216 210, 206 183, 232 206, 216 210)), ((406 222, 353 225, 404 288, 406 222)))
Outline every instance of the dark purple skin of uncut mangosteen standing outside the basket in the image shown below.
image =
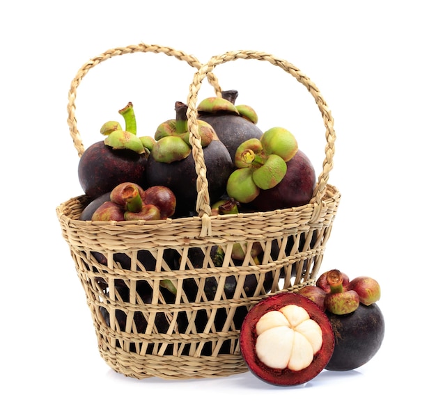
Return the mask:
POLYGON ((357 369, 371 360, 382 346, 384 318, 376 304, 359 305, 351 314, 337 316, 326 312, 332 323, 335 346, 326 370, 357 369))

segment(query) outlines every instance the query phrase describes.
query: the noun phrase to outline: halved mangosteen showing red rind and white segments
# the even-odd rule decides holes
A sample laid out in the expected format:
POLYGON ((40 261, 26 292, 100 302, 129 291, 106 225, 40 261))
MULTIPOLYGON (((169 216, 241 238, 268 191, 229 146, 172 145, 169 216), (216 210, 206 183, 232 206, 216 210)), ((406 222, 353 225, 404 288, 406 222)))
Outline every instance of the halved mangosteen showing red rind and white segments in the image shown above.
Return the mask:
POLYGON ((332 357, 334 332, 309 298, 283 292, 260 300, 244 318, 242 356, 251 373, 277 386, 303 384, 332 357))

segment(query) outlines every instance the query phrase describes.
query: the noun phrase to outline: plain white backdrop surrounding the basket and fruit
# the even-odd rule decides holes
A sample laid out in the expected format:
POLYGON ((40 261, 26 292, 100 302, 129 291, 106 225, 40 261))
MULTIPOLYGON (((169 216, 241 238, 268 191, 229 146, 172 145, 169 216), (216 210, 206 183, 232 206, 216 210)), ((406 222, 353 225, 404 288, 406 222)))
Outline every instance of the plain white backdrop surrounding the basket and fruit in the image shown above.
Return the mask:
MULTIPOLYGON (((1 411, 428 411, 436 275, 436 29, 430 3, 3 2, 1 411), (250 373, 136 380, 104 363, 55 213, 82 193, 66 107, 81 65, 139 42, 180 49, 203 63, 228 50, 266 51, 316 83, 337 134, 329 183, 342 193, 322 271, 370 275, 382 286, 386 334, 368 364, 278 388, 250 373)), ((216 73, 222 88, 239 90, 239 103, 256 108, 261 129, 293 131, 320 173, 322 119, 302 85, 255 60, 226 63, 216 73)), ((76 101, 84 145, 100 140, 101 124, 117 118, 130 100, 139 132, 154 133, 158 123, 173 118, 174 102, 186 99, 193 75, 185 63, 155 54, 116 57, 93 68, 76 101)), ((212 94, 206 82, 203 93, 212 94)))

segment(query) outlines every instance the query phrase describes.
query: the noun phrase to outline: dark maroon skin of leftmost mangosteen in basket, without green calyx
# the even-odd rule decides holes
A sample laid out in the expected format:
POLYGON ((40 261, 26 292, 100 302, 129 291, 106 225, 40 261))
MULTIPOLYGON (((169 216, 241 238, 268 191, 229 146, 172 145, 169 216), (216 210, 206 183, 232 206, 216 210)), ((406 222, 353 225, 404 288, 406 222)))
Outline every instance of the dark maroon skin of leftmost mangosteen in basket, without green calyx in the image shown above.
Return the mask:
POLYGON ((130 149, 112 149, 100 140, 80 157, 79 183, 93 200, 127 181, 146 188, 146 163, 145 154, 137 154, 130 149))

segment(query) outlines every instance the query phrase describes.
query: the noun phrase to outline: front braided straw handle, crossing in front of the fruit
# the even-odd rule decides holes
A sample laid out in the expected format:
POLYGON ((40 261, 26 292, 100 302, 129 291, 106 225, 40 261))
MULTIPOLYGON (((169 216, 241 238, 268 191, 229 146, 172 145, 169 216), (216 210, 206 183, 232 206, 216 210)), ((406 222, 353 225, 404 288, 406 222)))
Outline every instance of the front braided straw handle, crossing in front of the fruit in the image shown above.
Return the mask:
POLYGON ((205 76, 210 76, 212 70, 215 69, 217 65, 221 65, 221 63, 229 62, 237 59, 255 59, 255 60, 266 60, 270 62, 272 65, 279 66, 285 72, 292 74, 292 76, 306 86, 307 90, 311 93, 313 98, 315 99, 316 104, 322 114, 322 119, 325 124, 325 138, 327 140, 327 145, 325 146, 325 160, 322 164, 322 172, 318 177, 318 182, 313 191, 313 197, 311 199, 311 203, 313 203, 313 214, 311 217, 311 222, 316 222, 320 216, 321 206, 322 206, 322 197, 324 197, 327 191, 327 181, 329 179, 329 172, 333 168, 333 156, 334 156, 334 143, 336 140, 336 133, 334 131, 334 122, 332 118, 332 114, 329 111, 325 100, 323 99, 320 91, 316 87, 316 85, 300 70, 288 63, 286 60, 279 59, 271 54, 267 54, 259 51, 228 51, 225 54, 221 54, 220 56, 213 56, 210 58, 208 63, 202 65, 196 74, 194 74, 194 80, 189 87, 189 95, 187 102, 187 118, 188 118, 188 129, 189 129, 189 141, 193 147, 193 156, 196 163, 197 170, 197 188, 198 188, 198 199, 197 199, 197 212, 198 215, 203 217, 203 229, 201 231, 201 236, 205 236, 210 234, 210 220, 208 220, 208 216, 210 216, 210 205, 208 204, 208 181, 205 175, 205 165, 203 161, 203 151, 201 149, 200 138, 198 136, 198 121, 197 121, 197 111, 196 111, 196 102, 198 97, 198 90, 201 87, 201 82, 205 78, 205 76), (195 150, 194 150, 195 148, 195 150))

